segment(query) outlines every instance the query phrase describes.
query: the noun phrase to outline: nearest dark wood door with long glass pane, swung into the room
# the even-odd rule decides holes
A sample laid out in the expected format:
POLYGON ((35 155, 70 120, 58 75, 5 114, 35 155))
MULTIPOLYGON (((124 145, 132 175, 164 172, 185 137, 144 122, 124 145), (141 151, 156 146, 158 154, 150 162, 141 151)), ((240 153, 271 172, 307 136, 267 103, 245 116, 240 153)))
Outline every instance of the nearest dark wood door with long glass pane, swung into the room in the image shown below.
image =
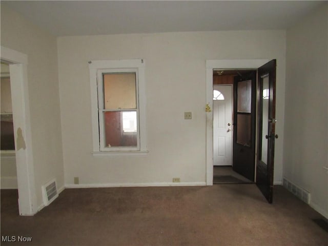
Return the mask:
POLYGON ((265 198, 273 200, 273 171, 276 125, 276 60, 258 69, 258 148, 256 185, 265 198))

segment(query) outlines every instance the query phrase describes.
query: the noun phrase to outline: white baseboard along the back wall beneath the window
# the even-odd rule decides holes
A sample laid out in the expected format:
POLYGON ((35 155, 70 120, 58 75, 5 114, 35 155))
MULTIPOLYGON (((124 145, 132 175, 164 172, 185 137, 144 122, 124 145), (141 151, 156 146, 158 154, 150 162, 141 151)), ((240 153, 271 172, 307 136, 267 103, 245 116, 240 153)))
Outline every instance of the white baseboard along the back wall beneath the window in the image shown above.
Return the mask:
POLYGON ((65 188, 112 188, 112 187, 166 187, 166 186, 206 186, 206 182, 158 182, 158 183, 81 183, 66 184, 65 188))

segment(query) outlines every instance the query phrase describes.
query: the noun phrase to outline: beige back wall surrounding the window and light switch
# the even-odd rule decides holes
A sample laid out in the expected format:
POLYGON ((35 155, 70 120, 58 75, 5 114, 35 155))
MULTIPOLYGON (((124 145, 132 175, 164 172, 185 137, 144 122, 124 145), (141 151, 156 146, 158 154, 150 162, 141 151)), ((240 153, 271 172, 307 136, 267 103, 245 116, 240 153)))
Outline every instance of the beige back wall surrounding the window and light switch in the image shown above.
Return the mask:
POLYGON ((205 182, 206 60, 277 59, 275 180, 282 177, 285 31, 58 37, 65 183, 205 182), (89 60, 146 60, 146 157, 93 157, 89 60), (185 120, 183 112, 193 118, 185 120))

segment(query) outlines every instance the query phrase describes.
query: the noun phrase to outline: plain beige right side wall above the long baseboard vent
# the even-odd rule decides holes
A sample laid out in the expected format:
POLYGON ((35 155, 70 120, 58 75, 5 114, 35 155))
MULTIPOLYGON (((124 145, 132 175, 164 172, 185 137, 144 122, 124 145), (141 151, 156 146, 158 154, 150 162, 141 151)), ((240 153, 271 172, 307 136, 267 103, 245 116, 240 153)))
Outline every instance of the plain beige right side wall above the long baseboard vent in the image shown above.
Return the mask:
POLYGON ((287 31, 283 175, 328 217, 328 8, 287 31))

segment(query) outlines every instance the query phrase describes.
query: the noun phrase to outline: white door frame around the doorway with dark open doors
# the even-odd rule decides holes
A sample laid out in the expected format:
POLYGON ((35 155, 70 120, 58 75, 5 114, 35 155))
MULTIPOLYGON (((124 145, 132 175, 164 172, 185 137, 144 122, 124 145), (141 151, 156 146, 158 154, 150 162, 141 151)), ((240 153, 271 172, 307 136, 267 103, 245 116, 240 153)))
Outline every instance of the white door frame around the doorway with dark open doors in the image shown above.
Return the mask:
MULTIPOLYGON (((254 69, 257 70, 270 59, 223 59, 206 60, 206 185, 213 185, 213 69, 254 69)), ((257 117, 256 117, 257 118, 257 117)), ((256 137, 257 139, 257 137, 256 137)), ((257 148, 257 143, 255 149, 257 148)), ((255 165, 256 168, 256 165, 255 165)), ((255 170, 254 170, 255 171, 255 170)))

